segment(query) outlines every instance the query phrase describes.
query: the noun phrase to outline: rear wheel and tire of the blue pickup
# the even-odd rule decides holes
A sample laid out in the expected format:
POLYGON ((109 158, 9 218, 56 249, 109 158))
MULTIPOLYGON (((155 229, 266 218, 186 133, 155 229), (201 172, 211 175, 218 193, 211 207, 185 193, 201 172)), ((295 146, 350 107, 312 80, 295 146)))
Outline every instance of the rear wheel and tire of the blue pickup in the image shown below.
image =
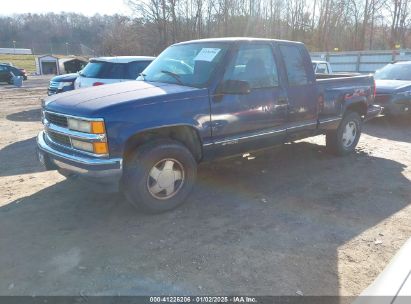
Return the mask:
POLYGON ((337 130, 326 133, 327 150, 339 156, 354 152, 360 140, 361 130, 362 119, 360 115, 356 112, 348 112, 341 120, 337 130))

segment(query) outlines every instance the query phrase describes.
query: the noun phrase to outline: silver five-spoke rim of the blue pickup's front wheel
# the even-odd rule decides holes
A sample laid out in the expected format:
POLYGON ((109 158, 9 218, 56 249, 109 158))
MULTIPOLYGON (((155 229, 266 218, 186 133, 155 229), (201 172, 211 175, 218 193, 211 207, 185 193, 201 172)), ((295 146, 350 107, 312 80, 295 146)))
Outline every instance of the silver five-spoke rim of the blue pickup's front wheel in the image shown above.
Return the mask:
POLYGON ((157 199, 169 199, 180 191, 184 184, 184 167, 172 158, 162 159, 150 170, 147 189, 157 199))

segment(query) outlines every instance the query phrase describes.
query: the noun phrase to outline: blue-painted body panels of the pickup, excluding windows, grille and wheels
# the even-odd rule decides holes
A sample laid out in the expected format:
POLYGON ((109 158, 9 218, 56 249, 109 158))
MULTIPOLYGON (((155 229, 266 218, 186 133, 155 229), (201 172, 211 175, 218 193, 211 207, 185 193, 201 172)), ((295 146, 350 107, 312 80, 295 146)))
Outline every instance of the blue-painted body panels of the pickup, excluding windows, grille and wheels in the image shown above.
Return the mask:
MULTIPOLYGON (((54 95, 45 109, 87 118, 103 118, 110 158, 122 158, 134 135, 168 126, 193 128, 204 159, 233 155, 286 142, 295 135, 316 135, 336 128, 352 104, 367 109, 373 103, 372 76, 317 80, 310 56, 302 43, 253 38, 205 39, 185 44, 222 45, 224 56, 201 87, 167 81, 128 81, 54 95), (265 45, 272 50, 278 72, 274 87, 252 89, 249 94, 221 94, 219 86, 227 67, 244 45, 265 45), (291 85, 281 46, 295 46, 302 54, 307 81, 291 85), (172 83, 172 82, 175 83, 172 83)), ((161 57, 161 55, 159 56, 161 57)), ((156 63, 156 59, 153 64, 156 63)), ((150 66, 146 69, 149 70, 150 66)), ((142 77, 144 78, 144 77, 142 77)), ((141 79, 142 79, 141 78, 141 79)))

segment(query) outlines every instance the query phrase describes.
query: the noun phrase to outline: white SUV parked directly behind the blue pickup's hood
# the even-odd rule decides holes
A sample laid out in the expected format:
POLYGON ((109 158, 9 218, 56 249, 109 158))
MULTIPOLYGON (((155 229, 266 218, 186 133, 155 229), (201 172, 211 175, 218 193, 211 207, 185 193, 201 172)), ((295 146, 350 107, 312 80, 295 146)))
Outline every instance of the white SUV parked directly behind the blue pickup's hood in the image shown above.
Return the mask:
POLYGON ((79 89, 135 80, 153 59, 154 57, 146 56, 117 56, 91 59, 84 69, 79 72, 79 77, 74 82, 74 87, 79 89))

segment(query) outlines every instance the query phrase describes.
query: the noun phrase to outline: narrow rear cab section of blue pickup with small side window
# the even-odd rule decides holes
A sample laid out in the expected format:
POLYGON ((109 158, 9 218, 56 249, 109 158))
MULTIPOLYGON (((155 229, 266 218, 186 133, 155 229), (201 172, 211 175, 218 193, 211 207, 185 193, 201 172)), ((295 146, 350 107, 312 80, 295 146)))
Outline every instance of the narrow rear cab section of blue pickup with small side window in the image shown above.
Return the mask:
POLYGON ((279 43, 287 76, 289 100, 287 132, 313 130, 317 126, 317 86, 311 59, 302 44, 279 43))

